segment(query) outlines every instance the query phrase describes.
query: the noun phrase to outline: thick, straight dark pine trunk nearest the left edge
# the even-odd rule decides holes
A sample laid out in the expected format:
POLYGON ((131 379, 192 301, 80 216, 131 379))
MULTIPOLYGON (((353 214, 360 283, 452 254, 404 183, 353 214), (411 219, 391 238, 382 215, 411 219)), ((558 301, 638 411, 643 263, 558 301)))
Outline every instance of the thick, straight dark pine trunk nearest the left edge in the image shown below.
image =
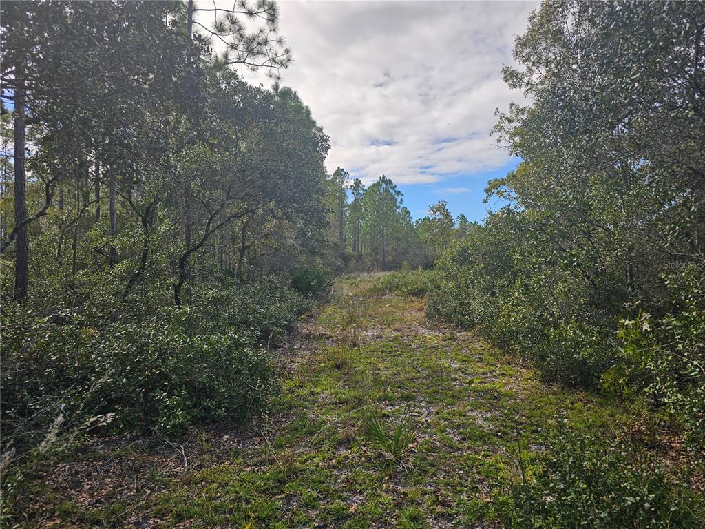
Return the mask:
MULTIPOLYGON (((21 74, 16 72, 16 77, 21 74)), ((15 226, 27 218, 27 176, 25 175, 25 90, 19 86, 15 91, 15 226)), ((15 238, 15 295, 18 301, 27 296, 29 282, 30 242, 27 226, 17 231, 15 238)))

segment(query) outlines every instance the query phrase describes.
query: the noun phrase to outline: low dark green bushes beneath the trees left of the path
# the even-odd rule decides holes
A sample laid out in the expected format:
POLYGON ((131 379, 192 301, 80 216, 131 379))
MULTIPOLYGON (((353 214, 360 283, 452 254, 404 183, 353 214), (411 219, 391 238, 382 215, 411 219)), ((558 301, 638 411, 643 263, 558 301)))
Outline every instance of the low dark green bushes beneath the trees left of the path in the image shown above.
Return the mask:
MULTIPOLYGON (((96 302, 96 305, 99 303, 96 302)), ((307 302, 277 281, 206 288, 185 307, 125 305, 106 319, 3 307, 4 437, 36 444, 56 416, 174 435, 262 413, 275 387, 267 349, 307 302)))

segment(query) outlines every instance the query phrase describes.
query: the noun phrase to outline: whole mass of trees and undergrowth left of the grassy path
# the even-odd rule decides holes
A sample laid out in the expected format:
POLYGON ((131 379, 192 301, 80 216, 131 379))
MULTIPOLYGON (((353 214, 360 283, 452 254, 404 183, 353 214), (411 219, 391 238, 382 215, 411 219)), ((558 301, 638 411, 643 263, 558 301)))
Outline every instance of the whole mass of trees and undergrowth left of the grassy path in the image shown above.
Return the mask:
POLYGON ((261 415, 329 255, 329 138, 233 68, 289 65, 276 4, 0 9, 4 474, 97 426, 261 415))

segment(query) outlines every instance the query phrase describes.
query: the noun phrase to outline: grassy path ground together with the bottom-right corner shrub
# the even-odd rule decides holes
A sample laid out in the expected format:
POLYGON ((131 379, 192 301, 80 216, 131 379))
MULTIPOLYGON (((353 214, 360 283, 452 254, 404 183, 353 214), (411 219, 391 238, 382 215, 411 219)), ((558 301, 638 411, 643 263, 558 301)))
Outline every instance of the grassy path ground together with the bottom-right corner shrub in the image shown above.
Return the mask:
POLYGON ((176 442, 94 439, 54 470, 34 468, 17 500, 31 513, 23 525, 692 528, 702 519, 703 468, 690 466, 658 413, 546 386, 472 332, 427 327, 423 298, 377 294, 385 278, 336 281, 279 351, 281 391, 265 418, 195 427, 176 442))

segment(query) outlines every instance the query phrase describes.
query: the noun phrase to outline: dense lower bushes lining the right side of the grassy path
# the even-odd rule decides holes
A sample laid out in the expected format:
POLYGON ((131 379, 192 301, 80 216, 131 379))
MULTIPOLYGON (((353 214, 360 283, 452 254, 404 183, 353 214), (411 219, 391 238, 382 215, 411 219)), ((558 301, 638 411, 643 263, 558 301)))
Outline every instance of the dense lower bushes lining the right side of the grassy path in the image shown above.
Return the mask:
POLYGON ((705 446, 703 270, 664 274, 670 293, 658 305, 600 303, 563 269, 532 264, 508 231, 520 219, 493 214, 441 257, 427 315, 477 329, 548 380, 644 394, 705 446))

